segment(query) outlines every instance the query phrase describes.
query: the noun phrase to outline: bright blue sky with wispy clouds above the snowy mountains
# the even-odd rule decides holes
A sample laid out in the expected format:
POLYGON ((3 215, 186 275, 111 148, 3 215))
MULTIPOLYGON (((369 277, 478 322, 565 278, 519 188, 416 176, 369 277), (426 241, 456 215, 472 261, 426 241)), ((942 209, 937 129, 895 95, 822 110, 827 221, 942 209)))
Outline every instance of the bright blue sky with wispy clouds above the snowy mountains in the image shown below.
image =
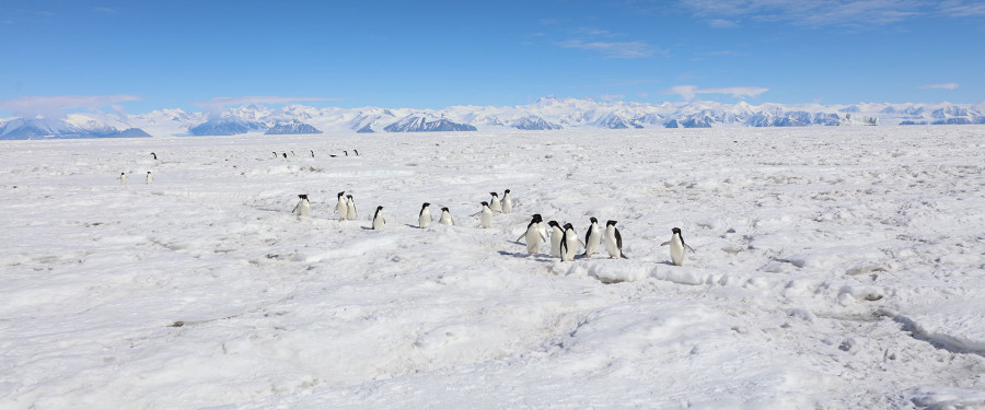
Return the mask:
POLYGON ((0 0, 0 116, 547 95, 980 103, 982 27, 971 0, 0 0))

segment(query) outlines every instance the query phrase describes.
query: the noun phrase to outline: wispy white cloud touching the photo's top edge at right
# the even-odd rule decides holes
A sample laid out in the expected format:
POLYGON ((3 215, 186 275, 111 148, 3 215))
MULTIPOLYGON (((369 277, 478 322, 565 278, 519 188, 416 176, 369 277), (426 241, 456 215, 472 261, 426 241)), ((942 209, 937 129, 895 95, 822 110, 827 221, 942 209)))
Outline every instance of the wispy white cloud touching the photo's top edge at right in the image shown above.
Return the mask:
POLYGON ((680 0, 680 4, 696 16, 709 19, 712 26, 734 19, 814 27, 885 25, 936 12, 918 0, 680 0))

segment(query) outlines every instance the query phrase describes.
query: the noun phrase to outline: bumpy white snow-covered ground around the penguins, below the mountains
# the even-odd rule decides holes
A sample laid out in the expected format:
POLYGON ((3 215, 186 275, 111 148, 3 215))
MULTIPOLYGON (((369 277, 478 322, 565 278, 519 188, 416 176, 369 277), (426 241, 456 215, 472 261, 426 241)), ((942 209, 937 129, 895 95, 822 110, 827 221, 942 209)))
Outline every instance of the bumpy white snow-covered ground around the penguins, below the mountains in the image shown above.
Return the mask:
POLYGON ((0 408, 985 406, 981 126, 0 145, 0 408))

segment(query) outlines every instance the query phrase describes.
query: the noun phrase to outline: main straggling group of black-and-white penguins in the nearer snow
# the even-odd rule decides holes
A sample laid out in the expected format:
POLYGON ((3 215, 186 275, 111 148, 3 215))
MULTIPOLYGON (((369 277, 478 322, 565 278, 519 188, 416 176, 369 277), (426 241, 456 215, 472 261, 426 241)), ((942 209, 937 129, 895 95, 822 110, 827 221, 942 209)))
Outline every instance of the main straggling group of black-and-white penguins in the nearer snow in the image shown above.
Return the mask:
MULTIPOLYGON (((509 189, 503 192, 502 199, 499 198, 497 192, 489 194, 493 196, 493 199, 490 201, 483 201, 483 209, 472 214, 473 216, 482 215, 479 225, 484 229, 493 226, 493 215, 495 213, 511 213, 513 208, 513 200, 510 198, 509 189)), ((339 215, 338 220, 356 220, 356 201, 352 199, 352 196, 345 195, 345 191, 343 191, 338 192, 337 197, 338 203, 335 206, 335 212, 339 215)), ((308 199, 308 195, 301 194, 298 198, 301 200, 291 212, 299 216, 310 216, 311 202, 308 199)), ((420 207, 420 213, 417 219, 417 225, 420 229, 427 229, 431 225, 430 206, 430 203, 425 202, 420 207)), ((557 221, 547 222, 547 226, 551 226, 553 230, 551 233, 551 256, 560 258, 565 261, 573 261, 578 245, 581 245, 581 247, 584 248, 582 256, 591 258, 592 255, 598 254, 598 249, 601 246, 604 236, 605 250, 609 253, 610 259, 628 259, 628 257, 623 254, 623 236, 615 226, 617 221, 607 221, 605 223, 605 232, 603 233, 602 229, 599 226, 598 219, 592 216, 589 220, 591 221, 591 225, 589 225, 588 233, 584 235, 584 242, 578 238, 575 226, 570 223, 566 223, 561 226, 557 221)), ((441 218, 438 222, 444 225, 455 224, 447 207, 441 208, 441 218)), ((383 218, 383 206, 379 206, 373 214, 372 229, 376 231, 382 230, 385 223, 386 219, 383 218)), ((684 237, 681 234, 680 227, 672 229, 671 234, 671 239, 660 244, 660 246, 670 245, 671 262, 675 266, 683 266, 685 250, 694 253, 694 248, 684 243, 684 237)), ((520 235, 520 237, 517 238, 517 242, 520 242, 520 239, 523 239, 524 237, 526 238, 526 253, 530 255, 538 254, 541 245, 547 242, 547 229, 544 226, 544 219, 540 213, 533 214, 533 218, 526 225, 526 232, 520 235)))

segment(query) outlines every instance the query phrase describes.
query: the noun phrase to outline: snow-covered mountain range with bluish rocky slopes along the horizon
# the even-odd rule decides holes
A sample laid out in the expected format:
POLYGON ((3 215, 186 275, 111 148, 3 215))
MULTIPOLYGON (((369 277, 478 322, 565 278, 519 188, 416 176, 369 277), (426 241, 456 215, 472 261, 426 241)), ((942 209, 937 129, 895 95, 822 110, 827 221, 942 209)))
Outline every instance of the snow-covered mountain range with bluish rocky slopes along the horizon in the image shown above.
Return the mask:
POLYGON ((315 108, 244 105, 221 113, 70 114, 62 119, 0 119, 0 140, 232 136, 247 132, 352 133, 495 129, 557 130, 985 124, 980 104, 751 105, 715 102, 641 104, 544 97, 521 106, 442 109, 315 108))

